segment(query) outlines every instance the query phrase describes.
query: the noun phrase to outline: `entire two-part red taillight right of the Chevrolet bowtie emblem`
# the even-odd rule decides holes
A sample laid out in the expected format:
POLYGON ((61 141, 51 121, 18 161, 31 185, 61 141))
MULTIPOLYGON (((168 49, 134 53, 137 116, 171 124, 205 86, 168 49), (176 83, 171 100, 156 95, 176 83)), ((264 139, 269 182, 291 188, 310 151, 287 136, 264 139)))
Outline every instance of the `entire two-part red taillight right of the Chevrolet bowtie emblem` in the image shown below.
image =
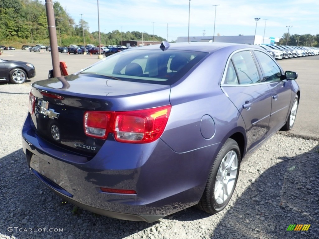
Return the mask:
POLYGON ((125 112, 85 112, 88 136, 106 139, 113 133, 118 142, 148 143, 157 140, 167 124, 171 105, 125 112))

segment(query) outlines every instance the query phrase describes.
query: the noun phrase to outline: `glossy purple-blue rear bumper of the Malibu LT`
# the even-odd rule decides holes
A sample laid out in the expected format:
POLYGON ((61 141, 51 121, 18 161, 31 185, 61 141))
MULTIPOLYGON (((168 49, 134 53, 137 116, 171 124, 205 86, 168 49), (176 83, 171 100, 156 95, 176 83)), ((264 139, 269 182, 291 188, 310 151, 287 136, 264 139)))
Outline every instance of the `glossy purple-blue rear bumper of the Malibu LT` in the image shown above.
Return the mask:
POLYGON ((35 134, 28 116, 22 144, 33 174, 60 197, 88 211, 152 222, 197 204, 218 145, 176 153, 162 140, 125 144, 108 140, 87 159, 51 145, 35 134), (100 187, 137 194, 102 192, 100 187))

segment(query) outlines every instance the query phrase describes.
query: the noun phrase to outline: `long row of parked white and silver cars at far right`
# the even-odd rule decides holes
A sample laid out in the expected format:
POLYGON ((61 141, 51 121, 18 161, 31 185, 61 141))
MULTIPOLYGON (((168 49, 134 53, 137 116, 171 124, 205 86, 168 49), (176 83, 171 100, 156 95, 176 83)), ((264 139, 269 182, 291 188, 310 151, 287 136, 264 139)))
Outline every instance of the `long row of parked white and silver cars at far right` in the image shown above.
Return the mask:
POLYGON ((275 46, 275 45, 259 45, 259 47, 266 50, 276 60, 319 54, 318 47, 275 46))

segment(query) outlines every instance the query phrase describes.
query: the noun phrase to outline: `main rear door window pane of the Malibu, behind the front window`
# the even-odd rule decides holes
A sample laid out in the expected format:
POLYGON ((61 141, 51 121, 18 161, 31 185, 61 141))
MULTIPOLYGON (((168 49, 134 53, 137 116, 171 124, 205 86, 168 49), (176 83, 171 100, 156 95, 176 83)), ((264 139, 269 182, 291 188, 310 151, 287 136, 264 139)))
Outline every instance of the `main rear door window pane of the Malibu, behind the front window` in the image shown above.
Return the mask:
POLYGON ((259 83, 259 73, 250 51, 235 53, 232 58, 240 84, 259 83))

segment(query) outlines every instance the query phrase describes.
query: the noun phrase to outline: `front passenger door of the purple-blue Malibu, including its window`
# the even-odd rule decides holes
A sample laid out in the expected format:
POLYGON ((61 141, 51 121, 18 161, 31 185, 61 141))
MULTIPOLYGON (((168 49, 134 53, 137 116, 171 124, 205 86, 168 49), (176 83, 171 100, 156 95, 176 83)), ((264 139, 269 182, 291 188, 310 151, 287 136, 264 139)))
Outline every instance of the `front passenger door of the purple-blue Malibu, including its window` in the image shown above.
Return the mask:
POLYGON ((283 72, 277 63, 267 54, 254 51, 258 59, 263 81, 271 93, 271 116, 269 121, 269 134, 277 132, 286 122, 291 100, 290 82, 282 80, 283 72))

